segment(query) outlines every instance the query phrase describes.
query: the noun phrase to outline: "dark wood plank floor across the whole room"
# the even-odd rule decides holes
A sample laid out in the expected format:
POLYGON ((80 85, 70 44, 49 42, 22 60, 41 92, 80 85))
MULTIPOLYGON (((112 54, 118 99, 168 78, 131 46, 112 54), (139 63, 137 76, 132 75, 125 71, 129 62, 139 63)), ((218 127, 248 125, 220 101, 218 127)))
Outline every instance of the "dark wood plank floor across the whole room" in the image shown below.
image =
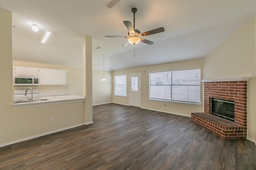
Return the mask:
POLYGON ((93 124, 0 148, 0 169, 255 170, 255 144, 224 140, 190 117, 118 104, 93 124))

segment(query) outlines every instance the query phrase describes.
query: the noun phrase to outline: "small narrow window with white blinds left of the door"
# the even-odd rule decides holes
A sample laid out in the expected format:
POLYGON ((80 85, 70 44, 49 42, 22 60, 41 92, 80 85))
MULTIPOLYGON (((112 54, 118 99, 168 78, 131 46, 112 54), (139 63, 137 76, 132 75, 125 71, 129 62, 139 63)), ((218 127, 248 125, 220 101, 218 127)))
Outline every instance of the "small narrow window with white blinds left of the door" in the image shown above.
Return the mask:
POLYGON ((115 96, 126 97, 126 75, 115 76, 115 96))

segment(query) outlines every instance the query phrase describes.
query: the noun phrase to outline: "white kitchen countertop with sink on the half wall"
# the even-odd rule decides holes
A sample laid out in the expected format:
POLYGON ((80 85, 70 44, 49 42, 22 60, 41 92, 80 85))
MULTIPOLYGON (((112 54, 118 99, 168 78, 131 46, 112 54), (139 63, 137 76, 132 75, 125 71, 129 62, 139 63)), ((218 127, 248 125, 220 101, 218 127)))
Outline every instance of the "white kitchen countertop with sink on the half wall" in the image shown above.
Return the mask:
POLYGON ((13 107, 20 108, 20 107, 43 106, 43 105, 61 104, 61 103, 68 103, 68 102, 80 102, 84 100, 85 100, 85 96, 76 96, 76 95, 44 96, 40 98, 40 101, 36 101, 36 102, 15 103, 13 101, 13 107), (47 99, 47 100, 44 100, 44 99, 47 99))

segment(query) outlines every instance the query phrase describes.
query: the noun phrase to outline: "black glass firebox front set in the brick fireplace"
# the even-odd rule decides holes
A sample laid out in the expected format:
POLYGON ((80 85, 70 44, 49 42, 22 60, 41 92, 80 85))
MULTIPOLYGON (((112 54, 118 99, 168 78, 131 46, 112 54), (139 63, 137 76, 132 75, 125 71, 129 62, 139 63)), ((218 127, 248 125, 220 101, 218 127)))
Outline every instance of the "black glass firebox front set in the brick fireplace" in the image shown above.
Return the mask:
POLYGON ((232 100, 222 100, 212 98, 212 114, 228 119, 230 121, 235 121, 235 102, 232 100))

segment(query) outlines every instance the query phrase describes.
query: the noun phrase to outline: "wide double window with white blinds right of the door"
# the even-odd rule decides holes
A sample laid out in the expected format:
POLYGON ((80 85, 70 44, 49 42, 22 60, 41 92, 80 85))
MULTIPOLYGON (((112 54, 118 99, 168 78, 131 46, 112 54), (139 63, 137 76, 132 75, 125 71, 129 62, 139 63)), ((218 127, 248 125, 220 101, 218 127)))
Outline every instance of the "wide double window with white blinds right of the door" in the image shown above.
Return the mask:
POLYGON ((150 73, 149 98, 200 104, 200 68, 150 73))

